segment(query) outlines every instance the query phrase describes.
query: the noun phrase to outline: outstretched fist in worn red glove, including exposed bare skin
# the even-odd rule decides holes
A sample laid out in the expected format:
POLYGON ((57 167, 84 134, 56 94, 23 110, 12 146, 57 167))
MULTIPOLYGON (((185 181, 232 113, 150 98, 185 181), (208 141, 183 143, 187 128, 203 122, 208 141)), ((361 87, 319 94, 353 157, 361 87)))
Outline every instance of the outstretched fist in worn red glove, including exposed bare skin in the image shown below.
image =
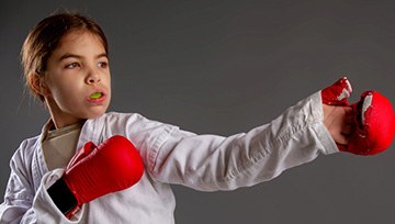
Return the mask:
POLYGON ((395 133, 393 105, 377 91, 363 92, 361 99, 350 105, 348 98, 351 92, 346 77, 321 91, 326 112, 324 123, 338 148, 357 155, 375 155, 385 150, 395 133))

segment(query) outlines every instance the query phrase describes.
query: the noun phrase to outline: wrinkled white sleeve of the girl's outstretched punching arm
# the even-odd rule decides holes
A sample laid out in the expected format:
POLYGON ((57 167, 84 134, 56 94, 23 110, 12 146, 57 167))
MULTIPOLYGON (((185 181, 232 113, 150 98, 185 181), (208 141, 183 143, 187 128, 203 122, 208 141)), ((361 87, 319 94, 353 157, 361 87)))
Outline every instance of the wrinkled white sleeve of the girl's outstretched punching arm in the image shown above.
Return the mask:
POLYGON ((323 120, 317 92, 248 133, 223 137, 174 130, 156 144, 149 169, 158 181, 202 191, 253 186, 319 154, 337 153, 323 120))

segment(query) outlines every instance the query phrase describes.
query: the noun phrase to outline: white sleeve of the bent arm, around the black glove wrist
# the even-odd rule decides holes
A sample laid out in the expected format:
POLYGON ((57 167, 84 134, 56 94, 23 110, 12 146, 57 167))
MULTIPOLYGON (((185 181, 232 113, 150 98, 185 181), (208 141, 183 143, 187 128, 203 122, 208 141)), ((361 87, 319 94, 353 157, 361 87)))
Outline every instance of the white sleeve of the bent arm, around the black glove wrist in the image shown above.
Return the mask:
MULTIPOLYGON (((78 223, 80 213, 75 220, 68 220, 54 204, 47 188, 61 177, 64 170, 54 170, 47 172, 35 192, 30 182, 32 182, 30 172, 24 170, 22 156, 18 150, 11 159, 11 175, 7 186, 4 201, 0 205, 0 224, 33 224, 33 223, 78 223)), ((83 206, 82 206, 83 208, 83 206)))

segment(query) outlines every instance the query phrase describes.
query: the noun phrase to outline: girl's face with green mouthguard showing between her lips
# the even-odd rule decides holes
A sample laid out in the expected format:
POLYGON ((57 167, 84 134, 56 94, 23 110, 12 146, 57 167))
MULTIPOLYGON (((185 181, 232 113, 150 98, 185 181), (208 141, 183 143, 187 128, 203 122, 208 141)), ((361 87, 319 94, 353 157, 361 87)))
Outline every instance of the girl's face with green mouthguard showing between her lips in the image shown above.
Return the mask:
POLYGON ((109 58, 100 38, 70 32, 47 61, 45 100, 57 127, 102 115, 111 99, 109 58))

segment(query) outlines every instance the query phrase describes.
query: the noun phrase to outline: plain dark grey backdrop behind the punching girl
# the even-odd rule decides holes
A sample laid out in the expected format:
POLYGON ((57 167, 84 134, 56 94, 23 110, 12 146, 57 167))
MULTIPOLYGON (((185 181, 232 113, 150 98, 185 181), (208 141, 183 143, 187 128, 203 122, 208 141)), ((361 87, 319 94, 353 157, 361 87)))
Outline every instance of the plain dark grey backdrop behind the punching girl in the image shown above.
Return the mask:
MULTIPOLYGON (((1 1, 1 197, 9 160, 48 115, 23 87, 19 52, 55 10, 94 18, 110 41, 111 111, 230 135, 347 75, 351 101, 395 102, 394 1, 1 1)), ((394 223, 395 148, 321 156, 232 192, 174 186, 178 223, 394 223)))

